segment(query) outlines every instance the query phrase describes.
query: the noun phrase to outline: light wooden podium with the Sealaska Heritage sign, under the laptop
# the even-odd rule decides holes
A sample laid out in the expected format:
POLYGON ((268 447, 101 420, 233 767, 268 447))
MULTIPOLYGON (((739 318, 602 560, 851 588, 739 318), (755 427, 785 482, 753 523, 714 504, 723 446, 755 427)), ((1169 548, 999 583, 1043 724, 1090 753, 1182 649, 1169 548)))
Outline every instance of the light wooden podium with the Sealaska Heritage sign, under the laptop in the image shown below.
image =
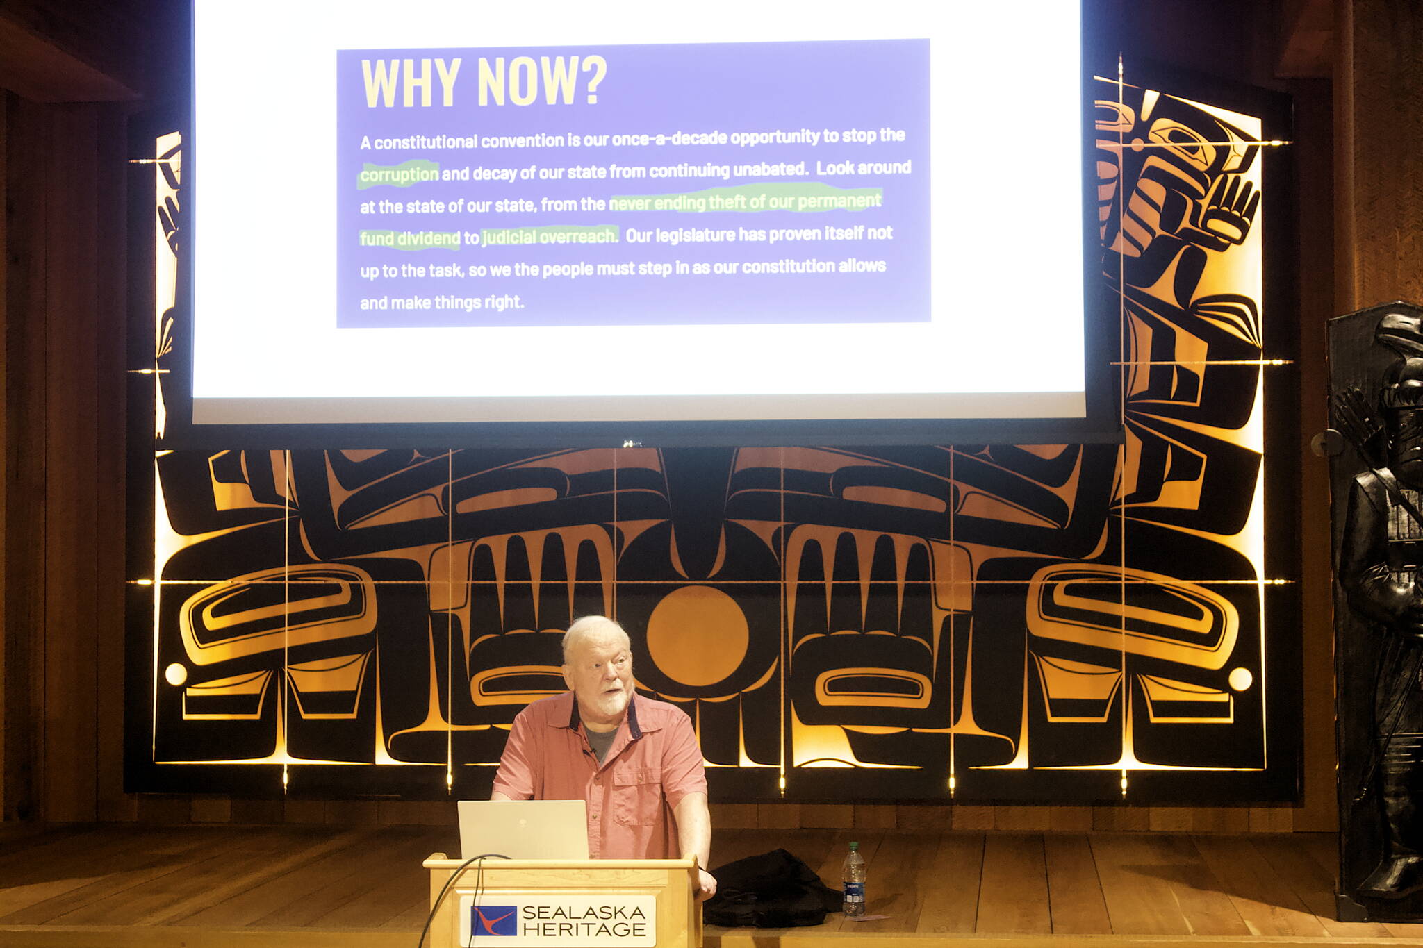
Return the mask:
POLYGON ((470 938, 474 948, 501 944, 702 948, 694 856, 665 860, 484 858, 460 871, 443 898, 441 890, 462 860, 434 853, 424 866, 430 870, 430 901, 435 910, 425 942, 431 948, 465 944, 461 937, 471 925, 484 927, 481 937, 470 938), (435 898, 440 898, 438 905, 434 905, 435 898), (471 911, 474 905, 485 908, 485 914, 471 911), (649 905, 655 911, 649 911, 649 905), (487 907, 498 907, 499 915, 487 907), (518 922, 514 935, 508 931, 511 908, 518 922))

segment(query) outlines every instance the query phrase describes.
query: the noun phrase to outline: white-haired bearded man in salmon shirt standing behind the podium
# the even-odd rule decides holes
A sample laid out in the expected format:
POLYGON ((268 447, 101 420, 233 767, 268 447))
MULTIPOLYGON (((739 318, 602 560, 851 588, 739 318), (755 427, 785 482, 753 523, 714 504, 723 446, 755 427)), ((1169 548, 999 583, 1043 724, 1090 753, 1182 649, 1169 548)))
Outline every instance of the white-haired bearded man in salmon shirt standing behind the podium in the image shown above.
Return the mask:
POLYGON ((494 800, 585 800, 593 858, 677 858, 702 867, 697 898, 716 893, 707 779, 692 719, 633 694, 628 632, 585 615, 564 632, 562 695, 514 718, 494 800))

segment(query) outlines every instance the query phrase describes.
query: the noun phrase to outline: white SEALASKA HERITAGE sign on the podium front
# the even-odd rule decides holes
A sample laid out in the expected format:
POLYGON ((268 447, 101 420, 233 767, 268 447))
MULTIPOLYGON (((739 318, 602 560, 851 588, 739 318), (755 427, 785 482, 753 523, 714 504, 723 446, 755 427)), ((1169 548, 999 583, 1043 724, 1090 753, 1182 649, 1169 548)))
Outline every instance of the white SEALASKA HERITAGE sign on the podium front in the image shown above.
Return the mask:
POLYGON ((653 948, 655 895, 484 891, 460 897, 461 948, 653 948))

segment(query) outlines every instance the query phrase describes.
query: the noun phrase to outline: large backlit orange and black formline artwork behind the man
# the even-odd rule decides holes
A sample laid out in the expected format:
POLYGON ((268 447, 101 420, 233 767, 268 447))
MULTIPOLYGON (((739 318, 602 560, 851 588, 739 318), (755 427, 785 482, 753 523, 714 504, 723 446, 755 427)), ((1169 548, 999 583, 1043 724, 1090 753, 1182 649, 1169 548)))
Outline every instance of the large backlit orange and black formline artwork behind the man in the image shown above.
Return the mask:
POLYGON ((242 763, 478 795, 589 613, 720 799, 1266 772, 1261 121, 1099 91, 1124 445, 164 451, 159 405, 154 789, 242 763))

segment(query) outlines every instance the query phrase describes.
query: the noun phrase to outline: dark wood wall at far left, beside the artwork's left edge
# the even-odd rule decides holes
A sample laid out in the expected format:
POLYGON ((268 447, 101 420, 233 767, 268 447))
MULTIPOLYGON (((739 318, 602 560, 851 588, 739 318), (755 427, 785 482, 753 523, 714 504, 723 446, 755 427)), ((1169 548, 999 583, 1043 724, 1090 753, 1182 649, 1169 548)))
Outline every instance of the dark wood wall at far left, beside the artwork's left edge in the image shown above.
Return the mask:
POLYGON ((121 780, 124 122, 6 119, 4 813, 94 820, 121 780))

